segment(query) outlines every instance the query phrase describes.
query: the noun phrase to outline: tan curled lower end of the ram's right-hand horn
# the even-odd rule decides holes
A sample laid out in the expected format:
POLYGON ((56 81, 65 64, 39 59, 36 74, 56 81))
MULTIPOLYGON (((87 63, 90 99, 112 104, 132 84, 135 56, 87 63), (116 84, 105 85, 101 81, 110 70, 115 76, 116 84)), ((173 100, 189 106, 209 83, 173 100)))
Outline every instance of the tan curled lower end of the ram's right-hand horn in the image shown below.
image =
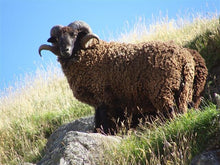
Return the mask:
POLYGON ((83 49, 87 49, 98 43, 99 43, 99 37, 93 33, 88 33, 81 39, 81 46, 83 49))

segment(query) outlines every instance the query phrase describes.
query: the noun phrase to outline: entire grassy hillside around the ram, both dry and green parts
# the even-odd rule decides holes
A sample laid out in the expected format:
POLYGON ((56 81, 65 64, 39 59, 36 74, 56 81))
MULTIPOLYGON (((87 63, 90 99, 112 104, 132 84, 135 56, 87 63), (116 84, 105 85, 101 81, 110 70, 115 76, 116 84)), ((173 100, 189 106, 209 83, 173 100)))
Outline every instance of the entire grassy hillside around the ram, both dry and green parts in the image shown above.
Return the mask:
MULTIPOLYGON (((216 46, 220 45, 218 26, 218 19, 215 18, 196 18, 193 23, 182 19, 164 19, 150 26, 138 22, 131 31, 122 34, 119 40, 133 43, 173 40, 180 45, 195 48, 205 56, 210 39, 216 46)), ((215 58, 219 57, 214 56, 215 58)), ((41 157, 46 139, 54 129, 63 123, 92 114, 93 109, 72 97, 58 67, 48 66, 46 69, 39 69, 34 75, 28 75, 20 82, 19 89, 8 90, 7 96, 0 99, 0 113, 0 164, 18 164, 35 162, 41 157)), ((109 162, 147 163, 144 161, 148 158, 151 164, 169 164, 169 161, 172 164, 174 159, 180 159, 184 155, 180 151, 186 152, 186 156, 180 161, 187 162, 205 147, 201 145, 204 141, 216 134, 216 129, 220 127, 217 125, 218 119, 219 113, 210 106, 205 111, 192 111, 165 126, 155 123, 144 132, 137 132, 138 136, 128 136, 119 147, 120 150, 113 152, 113 155, 118 155, 115 156, 116 159, 109 162), (205 135, 203 139, 201 135, 205 135)))

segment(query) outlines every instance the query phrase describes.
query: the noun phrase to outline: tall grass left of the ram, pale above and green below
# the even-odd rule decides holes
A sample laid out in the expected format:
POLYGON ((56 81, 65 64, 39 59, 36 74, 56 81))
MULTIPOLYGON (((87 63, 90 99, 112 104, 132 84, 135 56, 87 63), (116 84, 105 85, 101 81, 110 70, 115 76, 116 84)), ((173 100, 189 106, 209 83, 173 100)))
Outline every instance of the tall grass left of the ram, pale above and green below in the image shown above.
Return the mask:
POLYGON ((56 65, 39 68, 0 100, 0 164, 35 161, 60 125, 93 113, 78 102, 56 65))

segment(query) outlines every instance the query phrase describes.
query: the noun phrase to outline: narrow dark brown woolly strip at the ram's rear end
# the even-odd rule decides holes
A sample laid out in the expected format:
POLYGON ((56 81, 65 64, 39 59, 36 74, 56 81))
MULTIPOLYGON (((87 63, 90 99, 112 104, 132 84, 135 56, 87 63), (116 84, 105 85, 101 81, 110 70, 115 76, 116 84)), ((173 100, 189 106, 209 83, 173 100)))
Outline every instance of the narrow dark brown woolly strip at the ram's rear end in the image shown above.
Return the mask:
POLYGON ((202 92, 206 83, 206 77, 208 75, 208 69, 205 64, 205 60, 202 56, 192 49, 187 49, 193 56, 195 61, 195 77, 193 82, 193 107, 198 108, 201 102, 202 92))

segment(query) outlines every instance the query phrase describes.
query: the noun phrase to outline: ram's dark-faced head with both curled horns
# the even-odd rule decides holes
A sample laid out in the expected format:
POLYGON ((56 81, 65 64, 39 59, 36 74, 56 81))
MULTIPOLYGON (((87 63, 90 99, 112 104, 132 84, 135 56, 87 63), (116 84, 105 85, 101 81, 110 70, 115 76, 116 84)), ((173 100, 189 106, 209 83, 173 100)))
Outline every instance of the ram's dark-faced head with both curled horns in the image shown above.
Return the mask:
POLYGON ((78 58, 79 50, 99 43, 98 36, 92 34, 90 27, 82 21, 75 21, 68 26, 56 25, 50 30, 50 36, 47 41, 52 45, 41 45, 38 50, 40 56, 42 50, 49 50, 61 58, 78 58), (91 39, 96 39, 98 42, 93 42, 94 40, 91 39))

